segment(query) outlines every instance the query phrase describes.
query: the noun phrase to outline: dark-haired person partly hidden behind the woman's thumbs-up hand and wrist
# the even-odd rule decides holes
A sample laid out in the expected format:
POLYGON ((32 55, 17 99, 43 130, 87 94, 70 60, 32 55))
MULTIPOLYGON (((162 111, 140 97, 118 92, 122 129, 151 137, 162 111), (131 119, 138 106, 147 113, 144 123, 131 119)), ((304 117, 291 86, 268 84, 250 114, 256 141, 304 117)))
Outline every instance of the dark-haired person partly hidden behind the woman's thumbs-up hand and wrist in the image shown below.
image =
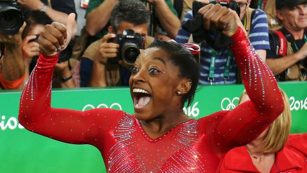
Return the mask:
MULTIPOLYGON (((22 58, 26 73, 24 82, 26 82, 26 80, 29 78, 29 73, 36 65, 36 61, 40 53, 40 48, 37 43, 38 36, 45 28, 45 25, 51 24, 52 20, 44 12, 38 10, 25 10, 23 12, 23 16, 27 24, 22 33, 22 58)), ((54 88, 76 87, 74 79, 77 80, 78 76, 76 74, 73 77, 71 72, 76 64, 77 60, 73 58, 69 58, 63 62, 58 62, 55 66, 52 86, 54 88)))

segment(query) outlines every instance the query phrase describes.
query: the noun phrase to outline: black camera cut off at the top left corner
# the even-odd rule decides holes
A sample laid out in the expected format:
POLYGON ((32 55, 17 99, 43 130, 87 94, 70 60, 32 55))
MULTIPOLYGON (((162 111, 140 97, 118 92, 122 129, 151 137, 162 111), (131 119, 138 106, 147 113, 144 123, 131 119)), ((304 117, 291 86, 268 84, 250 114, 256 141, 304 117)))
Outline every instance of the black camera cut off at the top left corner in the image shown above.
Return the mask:
POLYGON ((0 30, 15 35, 23 25, 23 17, 17 0, 0 0, 0 30))

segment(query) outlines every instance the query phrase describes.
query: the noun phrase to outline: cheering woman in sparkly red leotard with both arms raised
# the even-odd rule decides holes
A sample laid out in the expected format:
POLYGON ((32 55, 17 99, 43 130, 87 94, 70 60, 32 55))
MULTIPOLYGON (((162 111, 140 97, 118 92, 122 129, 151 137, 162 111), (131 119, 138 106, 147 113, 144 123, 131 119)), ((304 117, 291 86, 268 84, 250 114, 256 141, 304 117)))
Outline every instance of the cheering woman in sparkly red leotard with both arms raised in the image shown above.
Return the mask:
POLYGON ((56 48, 65 48, 72 29, 72 24, 66 28, 53 23, 39 38, 38 64, 20 98, 20 123, 55 140, 95 146, 108 173, 216 173, 225 154, 255 139, 284 105, 274 75, 234 22, 236 14, 220 4, 206 5, 199 13, 205 29, 213 25, 233 40, 230 50, 251 102, 200 119, 185 115, 184 103, 191 104, 197 88, 198 61, 180 44, 157 41, 132 69, 135 115, 114 109, 52 108, 56 48))

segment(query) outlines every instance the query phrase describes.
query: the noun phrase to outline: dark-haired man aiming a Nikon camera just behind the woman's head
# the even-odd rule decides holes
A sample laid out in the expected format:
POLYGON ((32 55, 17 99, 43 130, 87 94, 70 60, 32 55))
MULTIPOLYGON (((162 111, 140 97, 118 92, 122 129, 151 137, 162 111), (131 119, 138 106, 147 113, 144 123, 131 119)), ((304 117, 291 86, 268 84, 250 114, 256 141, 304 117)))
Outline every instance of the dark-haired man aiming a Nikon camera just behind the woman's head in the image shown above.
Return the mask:
POLYGON ((119 64, 108 62, 108 58, 121 57, 118 55, 121 44, 108 43, 116 34, 121 35, 128 28, 144 37, 145 48, 149 45, 146 42, 153 42, 146 36, 150 12, 139 0, 121 0, 117 3, 112 10, 110 23, 108 31, 112 34, 107 34, 101 40, 92 43, 81 57, 81 87, 128 86, 131 74, 129 65, 123 60, 119 60, 119 64))

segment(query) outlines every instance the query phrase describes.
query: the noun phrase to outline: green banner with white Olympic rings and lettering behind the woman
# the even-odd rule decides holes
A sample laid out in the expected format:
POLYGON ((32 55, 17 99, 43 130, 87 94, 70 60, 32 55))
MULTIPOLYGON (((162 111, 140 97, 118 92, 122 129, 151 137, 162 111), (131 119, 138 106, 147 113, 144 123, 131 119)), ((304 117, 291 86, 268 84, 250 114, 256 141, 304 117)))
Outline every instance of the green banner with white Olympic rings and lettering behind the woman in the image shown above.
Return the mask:
MULTIPOLYGON (((307 82, 279 83, 290 98, 291 133, 307 132, 307 82)), ((187 115, 200 118, 237 105, 242 85, 203 86, 187 115)), ((100 152, 29 132, 17 121, 21 91, 0 92, 0 173, 105 173, 100 152)), ((53 90, 52 106, 75 110, 121 109, 133 114, 129 88, 53 90)))

